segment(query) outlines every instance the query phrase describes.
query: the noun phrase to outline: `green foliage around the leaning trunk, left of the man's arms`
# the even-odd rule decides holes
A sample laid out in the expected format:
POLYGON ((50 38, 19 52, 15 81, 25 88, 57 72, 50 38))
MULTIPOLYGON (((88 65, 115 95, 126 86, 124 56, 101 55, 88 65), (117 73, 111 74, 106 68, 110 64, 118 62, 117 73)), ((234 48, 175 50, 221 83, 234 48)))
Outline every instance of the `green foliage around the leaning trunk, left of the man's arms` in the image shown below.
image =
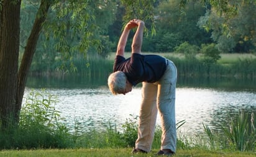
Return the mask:
MULTIPOLYGON (((22 49, 32 29, 39 4, 38 1, 22 2, 22 49)), ((115 1, 52 1, 31 69, 58 68, 76 72, 73 62, 80 53, 83 54, 82 57, 86 57, 88 50, 93 50, 106 57, 110 52, 107 29, 115 14, 115 1)))

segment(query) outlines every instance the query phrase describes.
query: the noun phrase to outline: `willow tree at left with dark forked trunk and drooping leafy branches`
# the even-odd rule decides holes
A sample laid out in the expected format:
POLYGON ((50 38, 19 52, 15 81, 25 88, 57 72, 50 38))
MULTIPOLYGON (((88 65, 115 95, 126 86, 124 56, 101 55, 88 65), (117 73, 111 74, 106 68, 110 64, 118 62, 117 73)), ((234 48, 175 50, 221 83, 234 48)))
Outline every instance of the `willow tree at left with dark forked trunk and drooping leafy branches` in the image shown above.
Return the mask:
MULTIPOLYGON (((0 129, 17 126, 19 123, 25 83, 42 28, 51 30, 49 31, 51 33, 47 34, 48 37, 55 37, 58 40, 55 48, 63 54, 64 60, 70 60, 73 55, 70 50, 76 49, 78 52, 86 53, 89 45, 96 43, 91 37, 93 37, 93 32, 98 30, 96 22, 94 22, 97 19, 94 19, 94 8, 89 7, 88 4, 104 3, 107 5, 107 2, 109 1, 0 0, 0 129), (21 53, 22 60, 19 65, 22 2, 34 5, 37 8, 37 14, 21 53), (48 16, 55 20, 47 20, 48 16), (73 48, 69 47, 66 40, 68 28, 72 28, 72 33, 79 33, 81 37, 78 45, 73 48)), ((151 14, 149 12, 151 12, 155 1, 121 1, 121 4, 127 8, 127 19, 145 17, 143 19, 147 20, 152 17, 148 15, 151 14), (130 11, 136 12, 129 14, 130 11)))

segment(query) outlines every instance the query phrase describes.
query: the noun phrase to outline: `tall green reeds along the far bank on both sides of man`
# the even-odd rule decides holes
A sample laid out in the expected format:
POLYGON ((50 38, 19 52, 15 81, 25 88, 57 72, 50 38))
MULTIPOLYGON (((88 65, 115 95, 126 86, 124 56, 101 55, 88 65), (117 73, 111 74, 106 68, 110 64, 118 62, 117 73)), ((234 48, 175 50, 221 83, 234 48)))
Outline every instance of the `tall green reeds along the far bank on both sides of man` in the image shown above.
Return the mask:
MULTIPOLYGON (((157 53, 158 54, 158 53, 157 53)), ((203 77, 232 77, 232 78, 256 78, 256 58, 255 57, 240 57, 232 60, 224 59, 217 63, 205 63, 200 58, 184 58, 179 55, 168 55, 170 53, 161 53, 168 59, 172 60, 178 68, 179 76, 203 76, 203 77)), ((228 58, 227 56, 225 56, 228 58)), ((114 56, 110 58, 101 58, 99 56, 92 56, 90 58, 76 58, 73 61, 75 67, 75 74, 83 75, 88 80, 94 78, 106 78, 112 72, 114 63, 114 56)), ((56 67, 55 69, 58 69, 56 67)), ((31 73, 43 73, 31 70, 31 73)), ((47 70, 45 70, 47 71, 47 70)), ((58 73, 60 71, 50 71, 49 73, 58 73)), ((69 73, 69 74, 74 74, 69 73)))

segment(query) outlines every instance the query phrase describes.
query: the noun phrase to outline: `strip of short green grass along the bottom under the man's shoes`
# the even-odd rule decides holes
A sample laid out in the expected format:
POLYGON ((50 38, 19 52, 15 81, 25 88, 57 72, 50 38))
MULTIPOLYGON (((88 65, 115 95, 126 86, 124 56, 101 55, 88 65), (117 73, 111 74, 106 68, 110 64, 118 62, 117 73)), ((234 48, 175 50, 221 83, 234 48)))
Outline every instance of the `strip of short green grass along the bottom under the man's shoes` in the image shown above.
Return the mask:
MULTIPOLYGON (((139 155, 132 155, 130 152, 131 148, 122 148, 122 149, 68 149, 68 150, 4 150, 0 151, 0 156, 62 156, 62 157, 73 157, 73 156, 122 156, 122 157, 140 157, 140 156, 155 156, 158 150, 152 150, 152 152, 139 155)), ((255 156, 256 153, 245 153, 240 151, 206 151, 206 150, 177 150, 175 157, 250 157, 255 156)))

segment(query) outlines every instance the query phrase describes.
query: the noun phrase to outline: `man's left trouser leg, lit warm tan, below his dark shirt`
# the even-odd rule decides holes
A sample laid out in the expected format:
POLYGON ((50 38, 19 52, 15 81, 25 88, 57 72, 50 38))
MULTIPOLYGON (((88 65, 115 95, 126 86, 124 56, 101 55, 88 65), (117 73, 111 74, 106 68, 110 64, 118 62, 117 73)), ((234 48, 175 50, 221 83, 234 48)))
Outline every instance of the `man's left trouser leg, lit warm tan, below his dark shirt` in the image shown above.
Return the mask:
POLYGON ((139 115, 138 139, 135 148, 151 150, 157 120, 157 85, 142 83, 142 102, 139 115))

